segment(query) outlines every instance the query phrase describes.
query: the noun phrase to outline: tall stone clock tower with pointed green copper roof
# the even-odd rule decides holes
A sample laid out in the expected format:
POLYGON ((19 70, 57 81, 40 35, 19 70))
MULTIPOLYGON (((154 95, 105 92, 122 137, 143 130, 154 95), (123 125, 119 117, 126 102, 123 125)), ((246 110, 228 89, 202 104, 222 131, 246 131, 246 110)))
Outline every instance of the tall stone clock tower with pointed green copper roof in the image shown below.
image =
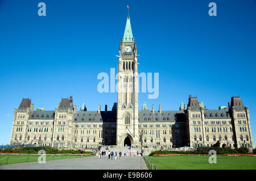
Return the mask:
POLYGON ((140 146, 138 129, 137 45, 127 17, 125 33, 119 45, 117 93, 117 145, 140 146))

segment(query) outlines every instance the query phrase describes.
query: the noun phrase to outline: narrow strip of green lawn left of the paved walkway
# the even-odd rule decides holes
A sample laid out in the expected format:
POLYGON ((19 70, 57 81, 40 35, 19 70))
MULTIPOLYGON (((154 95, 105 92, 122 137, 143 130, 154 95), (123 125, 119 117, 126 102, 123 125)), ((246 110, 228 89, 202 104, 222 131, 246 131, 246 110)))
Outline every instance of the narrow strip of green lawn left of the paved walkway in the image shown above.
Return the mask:
MULTIPOLYGON (((0 165, 13 164, 13 163, 24 163, 24 162, 37 162, 40 155, 0 155, 0 165)), ((90 157, 90 155, 83 155, 83 157, 90 157)), ((46 155, 46 161, 56 159, 72 159, 80 158, 80 155, 46 155)))

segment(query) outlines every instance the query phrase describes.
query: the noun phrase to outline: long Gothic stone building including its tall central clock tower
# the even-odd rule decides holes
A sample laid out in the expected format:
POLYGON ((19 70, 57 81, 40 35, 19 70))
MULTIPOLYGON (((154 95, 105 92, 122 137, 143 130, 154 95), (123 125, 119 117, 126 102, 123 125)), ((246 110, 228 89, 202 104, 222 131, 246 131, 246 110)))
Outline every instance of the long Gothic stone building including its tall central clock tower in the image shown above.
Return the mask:
POLYGON ((148 110, 138 107, 137 44, 127 17, 119 45, 118 95, 112 110, 87 111, 63 98, 54 111, 38 108, 22 99, 14 110, 10 145, 52 146, 59 149, 98 148, 101 145, 134 145, 154 148, 181 146, 229 146, 254 148, 248 107, 233 96, 228 107, 208 110, 197 97, 177 111, 162 111, 161 105, 148 110))

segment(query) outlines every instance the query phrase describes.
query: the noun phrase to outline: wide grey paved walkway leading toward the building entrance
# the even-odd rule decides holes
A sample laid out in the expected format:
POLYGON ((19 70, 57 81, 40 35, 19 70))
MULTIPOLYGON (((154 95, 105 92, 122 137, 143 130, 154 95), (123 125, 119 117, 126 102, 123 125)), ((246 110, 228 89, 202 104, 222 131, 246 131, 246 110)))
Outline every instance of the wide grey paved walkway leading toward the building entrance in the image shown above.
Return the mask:
POLYGON ((142 157, 122 157, 108 159, 98 157, 59 159, 46 163, 30 162, 0 166, 0 170, 146 170, 142 157))

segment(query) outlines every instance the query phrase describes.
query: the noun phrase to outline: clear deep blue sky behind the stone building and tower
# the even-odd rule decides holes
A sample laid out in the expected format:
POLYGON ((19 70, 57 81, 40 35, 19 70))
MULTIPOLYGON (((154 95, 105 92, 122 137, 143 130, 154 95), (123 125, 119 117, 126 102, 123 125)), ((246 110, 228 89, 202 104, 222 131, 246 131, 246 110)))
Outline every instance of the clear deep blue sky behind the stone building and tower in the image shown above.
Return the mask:
POLYGON ((139 72, 159 73, 158 110, 178 110, 197 96, 208 109, 241 96, 256 140, 256 1, 0 0, 0 144, 9 144, 14 108, 31 98, 54 110, 72 95, 78 108, 111 109, 117 93, 99 93, 97 75, 117 73, 127 7, 140 54, 139 72), (38 16, 38 3, 46 16, 38 16), (208 4, 217 4, 209 16, 208 4))

